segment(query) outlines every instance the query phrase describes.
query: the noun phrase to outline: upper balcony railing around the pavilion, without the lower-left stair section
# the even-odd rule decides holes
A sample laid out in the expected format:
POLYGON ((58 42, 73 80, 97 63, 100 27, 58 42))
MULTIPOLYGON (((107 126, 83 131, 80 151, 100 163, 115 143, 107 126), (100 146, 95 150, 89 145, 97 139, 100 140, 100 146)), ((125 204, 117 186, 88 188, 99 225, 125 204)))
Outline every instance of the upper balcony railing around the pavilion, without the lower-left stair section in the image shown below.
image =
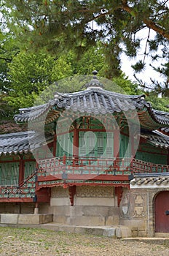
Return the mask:
POLYGON ((134 158, 98 157, 55 157, 39 161, 38 176, 81 174, 81 175, 130 175, 133 173, 165 173, 169 165, 158 165, 134 158))

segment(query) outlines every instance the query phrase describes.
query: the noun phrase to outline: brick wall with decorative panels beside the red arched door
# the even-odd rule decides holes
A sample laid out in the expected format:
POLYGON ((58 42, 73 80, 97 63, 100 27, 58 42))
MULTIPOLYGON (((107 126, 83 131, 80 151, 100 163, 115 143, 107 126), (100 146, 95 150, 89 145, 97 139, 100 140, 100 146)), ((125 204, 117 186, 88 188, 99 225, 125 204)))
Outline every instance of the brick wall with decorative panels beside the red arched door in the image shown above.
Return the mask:
POLYGON ((119 224, 127 225, 132 236, 155 236, 154 198, 166 188, 125 190, 120 203, 119 224))

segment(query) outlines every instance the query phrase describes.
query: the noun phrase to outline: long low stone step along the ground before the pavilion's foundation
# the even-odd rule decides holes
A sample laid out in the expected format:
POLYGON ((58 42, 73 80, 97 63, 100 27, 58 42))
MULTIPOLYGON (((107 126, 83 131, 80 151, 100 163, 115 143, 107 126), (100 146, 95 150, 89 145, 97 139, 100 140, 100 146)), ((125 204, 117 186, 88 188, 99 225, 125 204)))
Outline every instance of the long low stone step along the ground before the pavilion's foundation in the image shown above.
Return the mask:
POLYGON ((39 225, 47 230, 64 231, 67 233, 90 234, 96 236, 108 236, 111 238, 127 238, 131 237, 131 230, 127 226, 75 226, 62 225, 60 223, 51 222, 39 225))

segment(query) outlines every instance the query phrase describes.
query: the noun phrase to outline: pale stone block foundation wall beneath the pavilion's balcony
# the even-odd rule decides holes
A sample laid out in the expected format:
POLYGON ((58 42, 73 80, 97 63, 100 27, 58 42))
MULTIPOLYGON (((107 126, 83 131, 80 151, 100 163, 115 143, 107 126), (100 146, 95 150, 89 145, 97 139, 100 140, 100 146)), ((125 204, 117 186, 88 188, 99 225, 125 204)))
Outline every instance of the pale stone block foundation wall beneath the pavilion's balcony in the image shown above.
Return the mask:
POLYGON ((76 187, 74 206, 70 205, 68 189, 53 187, 49 212, 54 222, 67 225, 119 225, 114 187, 76 187))

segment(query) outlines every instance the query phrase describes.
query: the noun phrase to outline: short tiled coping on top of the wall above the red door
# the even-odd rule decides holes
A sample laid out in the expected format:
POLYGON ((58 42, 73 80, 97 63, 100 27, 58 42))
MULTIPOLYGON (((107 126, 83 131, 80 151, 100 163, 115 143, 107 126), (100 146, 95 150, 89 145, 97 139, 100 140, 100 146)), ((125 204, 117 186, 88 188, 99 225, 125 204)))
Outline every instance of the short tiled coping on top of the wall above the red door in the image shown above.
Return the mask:
POLYGON ((132 186, 169 186, 169 173, 146 173, 146 174, 137 174, 134 176, 133 180, 130 181, 132 186))

